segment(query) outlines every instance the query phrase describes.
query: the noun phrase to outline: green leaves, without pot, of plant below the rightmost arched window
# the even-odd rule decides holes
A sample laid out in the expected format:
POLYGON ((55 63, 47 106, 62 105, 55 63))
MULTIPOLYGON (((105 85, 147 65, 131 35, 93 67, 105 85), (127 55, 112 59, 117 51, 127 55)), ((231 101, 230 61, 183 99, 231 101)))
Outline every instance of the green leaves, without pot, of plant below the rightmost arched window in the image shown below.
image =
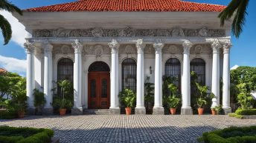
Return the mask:
POLYGON ((196 87, 197 87, 197 90, 199 90, 199 98, 196 99, 196 104, 198 107, 203 107, 205 104, 207 104, 206 98, 207 98, 208 86, 206 85, 202 86, 196 82, 196 87))

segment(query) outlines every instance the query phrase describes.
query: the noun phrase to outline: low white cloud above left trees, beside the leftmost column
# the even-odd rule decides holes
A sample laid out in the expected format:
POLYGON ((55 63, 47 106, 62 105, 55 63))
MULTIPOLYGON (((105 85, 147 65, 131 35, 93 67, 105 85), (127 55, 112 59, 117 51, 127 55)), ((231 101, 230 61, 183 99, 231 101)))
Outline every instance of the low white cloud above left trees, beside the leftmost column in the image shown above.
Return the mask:
POLYGON ((16 59, 0 55, 0 67, 13 73, 19 73, 21 76, 25 76, 27 61, 25 59, 16 59))

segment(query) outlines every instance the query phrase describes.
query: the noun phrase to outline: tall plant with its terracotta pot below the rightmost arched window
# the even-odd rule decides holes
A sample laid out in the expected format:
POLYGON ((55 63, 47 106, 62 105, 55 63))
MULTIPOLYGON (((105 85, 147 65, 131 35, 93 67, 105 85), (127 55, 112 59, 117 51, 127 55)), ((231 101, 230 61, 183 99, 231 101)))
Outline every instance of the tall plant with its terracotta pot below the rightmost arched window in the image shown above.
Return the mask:
POLYGON ((208 91, 208 86, 202 86, 199 83, 196 83, 196 87, 199 90, 199 98, 196 99, 196 104, 197 104, 197 111, 199 115, 202 115, 204 112, 204 106, 207 104, 206 102, 206 96, 207 96, 207 91, 208 91))

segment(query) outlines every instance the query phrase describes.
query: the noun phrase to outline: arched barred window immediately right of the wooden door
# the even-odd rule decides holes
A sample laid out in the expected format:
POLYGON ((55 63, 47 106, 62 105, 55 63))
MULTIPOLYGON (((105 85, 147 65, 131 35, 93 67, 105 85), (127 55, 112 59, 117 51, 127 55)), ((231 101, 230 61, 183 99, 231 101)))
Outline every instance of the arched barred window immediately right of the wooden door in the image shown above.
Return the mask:
POLYGON ((128 88, 136 91, 136 61, 128 58, 122 62, 122 89, 128 88))

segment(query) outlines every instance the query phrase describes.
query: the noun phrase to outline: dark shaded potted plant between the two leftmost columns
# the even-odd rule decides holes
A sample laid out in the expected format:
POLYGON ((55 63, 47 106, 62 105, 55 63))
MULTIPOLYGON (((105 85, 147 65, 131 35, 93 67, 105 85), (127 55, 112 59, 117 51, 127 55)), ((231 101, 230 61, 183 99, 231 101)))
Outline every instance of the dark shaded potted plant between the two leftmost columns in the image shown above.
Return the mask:
POLYGON ((41 91, 34 89, 33 90, 33 106, 36 107, 36 115, 42 115, 42 108, 45 106, 45 94, 41 91))

